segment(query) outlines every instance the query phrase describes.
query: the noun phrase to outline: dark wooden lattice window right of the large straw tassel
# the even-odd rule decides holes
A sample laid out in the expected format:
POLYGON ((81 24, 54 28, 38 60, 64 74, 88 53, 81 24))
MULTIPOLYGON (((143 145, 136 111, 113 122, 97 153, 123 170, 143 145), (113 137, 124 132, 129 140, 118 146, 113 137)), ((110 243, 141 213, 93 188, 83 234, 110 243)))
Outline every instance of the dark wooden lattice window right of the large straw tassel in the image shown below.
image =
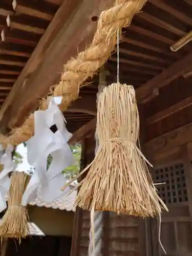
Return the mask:
POLYGON ((153 175, 154 183, 166 183, 157 187, 159 196, 166 204, 188 201, 182 163, 155 169, 153 175))

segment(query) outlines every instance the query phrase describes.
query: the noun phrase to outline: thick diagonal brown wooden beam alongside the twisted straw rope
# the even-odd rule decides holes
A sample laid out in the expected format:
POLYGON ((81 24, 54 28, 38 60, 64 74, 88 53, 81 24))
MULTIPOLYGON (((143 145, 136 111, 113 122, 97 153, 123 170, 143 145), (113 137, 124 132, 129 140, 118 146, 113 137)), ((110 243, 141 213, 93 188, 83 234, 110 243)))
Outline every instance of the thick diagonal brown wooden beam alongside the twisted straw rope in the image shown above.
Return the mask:
MULTIPOLYGON (((26 101, 26 96, 27 94, 30 93, 31 95, 31 85, 33 84, 33 99, 31 99, 33 101, 30 102, 30 108, 35 108, 36 107, 36 103, 38 102, 38 99, 41 95, 45 95, 48 91, 49 88, 52 84, 55 83, 55 79, 57 77, 60 77, 60 72, 62 72, 62 67, 63 67, 63 63, 65 63, 67 60, 69 60, 69 58, 71 56, 75 56, 77 53, 77 48, 78 50, 83 50, 84 47, 86 46, 86 44, 88 44, 88 42, 91 41, 93 34, 95 32, 95 28, 96 28, 96 23, 92 22, 91 17, 95 16, 95 15, 99 15, 100 12, 104 9, 109 8, 112 4, 113 4, 113 0, 100 0, 99 5, 96 4, 98 3, 98 1, 94 0, 94 1, 90 1, 90 0, 83 0, 82 2, 79 3, 79 7, 77 8, 77 3, 79 1, 77 1, 76 4, 74 4, 75 1, 64 1, 63 5, 61 5, 60 8, 62 8, 62 12, 60 11, 61 9, 59 8, 59 10, 57 11, 54 19, 52 20, 48 30, 48 35, 46 35, 45 33, 45 37, 48 37, 49 39, 51 38, 52 41, 54 39, 54 36, 56 36, 55 40, 52 42, 50 42, 50 45, 48 44, 47 40, 45 41, 44 39, 44 43, 42 45, 41 40, 39 41, 39 47, 37 46, 37 48, 35 49, 35 51, 32 54, 31 59, 33 59, 33 61, 31 62, 31 67, 30 67, 30 71, 34 71, 37 67, 37 65, 40 63, 40 61, 42 59, 44 59, 44 62, 40 63, 38 66, 38 70, 34 71, 33 74, 30 76, 30 78, 27 81, 26 87, 25 87, 25 94, 23 95, 22 98, 24 99, 24 104, 21 106, 21 108, 17 105, 14 106, 15 103, 18 104, 21 101, 16 100, 14 102, 12 102, 11 104, 11 108, 10 111, 14 112, 15 110, 12 109, 13 108, 17 108, 20 109, 22 112, 26 109, 29 110, 29 106, 27 108, 25 108, 26 103, 29 104, 29 101, 26 101), (69 11, 67 9, 67 6, 71 8, 71 11, 69 11), (73 12, 74 10, 74 12, 73 12), (89 17, 87 15, 89 11, 89 17), (66 23, 66 26, 63 26, 63 20, 65 20, 66 22, 66 17, 64 15, 64 13, 69 13, 71 14, 71 19, 70 22, 66 23), (62 19, 62 23, 60 22, 60 20, 62 19), (79 26, 80 25, 80 26, 79 26), (54 27, 53 27, 54 26, 54 27), (60 31, 58 31, 59 27, 60 31), (84 28, 89 28, 88 30, 85 30, 84 28), (56 30, 56 33, 55 33, 56 30), (51 33, 50 33, 51 31, 51 33), (71 41, 71 44, 69 44, 69 41, 71 41), (46 50, 45 45, 47 47, 49 47, 49 51, 45 52, 46 50), (37 55, 38 52, 38 55, 37 55), (39 59, 39 54, 40 56, 42 56, 42 58, 39 59), (35 56, 35 58, 34 58, 35 56), (38 62, 35 62, 34 59, 38 59, 38 62), (55 61, 56 60, 56 61, 55 61), (53 63, 54 65, 50 65, 50 63, 53 63), (50 70, 49 70, 50 69, 50 70), (38 73, 38 75, 37 75, 38 73), (44 77, 44 75, 46 75, 46 77, 44 77), (39 77, 40 76, 40 77, 39 77), (35 81, 37 79, 37 82, 35 81), (39 87, 40 84, 40 87, 39 87), (37 87, 36 87, 37 86, 37 87), (40 89, 40 91, 39 91, 40 89), (30 92, 29 92, 30 91, 30 92), (34 95, 36 94, 36 95, 34 95)), ((69 15, 68 14, 68 15, 69 15)), ((68 16, 69 18, 69 16, 68 16)), ((44 37, 43 36, 43 37, 44 37)), ((29 66, 28 64, 26 65, 26 67, 24 68, 24 71, 22 72, 22 74, 20 75, 21 77, 23 77, 22 79, 18 78, 19 83, 16 82, 13 91, 18 91, 19 90, 24 90, 22 89, 22 84, 23 84, 23 80, 25 79, 26 75, 29 74, 29 66)), ((24 91, 23 91, 24 92, 24 91)), ((12 93, 11 93, 12 94, 12 93)), ((20 95, 21 93, 19 93, 20 95)), ((14 96, 14 99, 16 99, 16 95, 15 93, 12 94, 12 98, 14 96)), ((20 97, 20 96, 19 96, 20 97)), ((8 97, 9 98, 9 97, 8 97)), ((7 101, 8 102, 8 101, 7 101)), ((5 103, 5 105, 7 104, 7 102, 5 103)), ((5 106, 4 105, 4 106, 5 106)), ((10 102, 9 102, 10 105, 10 102)), ((6 106, 7 108, 7 106, 6 106)), ((1 111, 0 113, 0 119, 3 116, 2 113, 5 111, 6 109, 5 107, 3 107, 3 111, 1 111)), ((12 112, 12 113, 13 113, 12 112)), ((19 115, 19 111, 17 112, 17 114, 19 115)), ((16 114, 16 116, 17 116, 16 114)), ((28 113, 26 113, 28 114, 28 113)), ((22 116, 26 115, 23 113, 22 116)), ((11 114, 12 115, 12 114, 11 114)), ((16 117, 15 115, 12 116, 13 119, 15 119, 16 117)), ((11 116, 10 116, 10 122, 13 121, 13 119, 11 120, 11 116)))

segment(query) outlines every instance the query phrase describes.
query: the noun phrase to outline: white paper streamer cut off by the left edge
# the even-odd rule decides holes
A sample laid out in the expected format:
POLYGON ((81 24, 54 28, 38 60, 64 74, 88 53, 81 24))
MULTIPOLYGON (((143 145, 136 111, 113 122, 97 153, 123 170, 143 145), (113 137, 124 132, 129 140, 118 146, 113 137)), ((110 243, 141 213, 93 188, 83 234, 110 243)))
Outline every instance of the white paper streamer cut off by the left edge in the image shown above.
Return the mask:
POLYGON ((0 212, 7 208, 5 196, 11 184, 8 174, 16 167, 16 164, 12 160, 12 151, 13 146, 8 146, 1 158, 1 164, 4 165, 4 168, 0 173, 0 212))

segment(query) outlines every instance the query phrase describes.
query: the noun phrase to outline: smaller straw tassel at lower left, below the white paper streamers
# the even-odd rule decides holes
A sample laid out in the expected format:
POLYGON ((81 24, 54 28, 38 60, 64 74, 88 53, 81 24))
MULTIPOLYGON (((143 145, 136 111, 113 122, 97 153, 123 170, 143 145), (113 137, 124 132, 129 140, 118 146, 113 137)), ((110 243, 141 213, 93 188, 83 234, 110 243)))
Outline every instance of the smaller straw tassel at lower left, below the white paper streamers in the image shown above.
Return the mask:
POLYGON ((0 226, 2 238, 17 238, 19 243, 29 234, 27 209, 21 204, 28 175, 24 172, 13 172, 9 189, 8 208, 0 226))

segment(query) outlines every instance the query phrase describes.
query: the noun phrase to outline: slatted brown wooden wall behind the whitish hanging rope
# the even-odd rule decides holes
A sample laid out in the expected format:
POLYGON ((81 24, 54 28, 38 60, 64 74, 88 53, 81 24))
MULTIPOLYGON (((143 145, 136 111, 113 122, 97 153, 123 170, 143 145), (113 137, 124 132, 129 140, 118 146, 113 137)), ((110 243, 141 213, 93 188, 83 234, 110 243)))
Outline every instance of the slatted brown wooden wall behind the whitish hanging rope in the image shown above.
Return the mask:
MULTIPOLYGON (((81 167, 94 158, 94 134, 82 145, 81 167)), ((72 241, 71 256, 87 256, 89 247, 90 212, 77 208, 72 241)), ((144 256, 140 253, 140 219, 131 216, 117 216, 104 212, 103 256, 144 256)), ((143 237, 144 239, 144 237, 143 237)), ((142 248, 143 249, 143 248, 142 248)))

